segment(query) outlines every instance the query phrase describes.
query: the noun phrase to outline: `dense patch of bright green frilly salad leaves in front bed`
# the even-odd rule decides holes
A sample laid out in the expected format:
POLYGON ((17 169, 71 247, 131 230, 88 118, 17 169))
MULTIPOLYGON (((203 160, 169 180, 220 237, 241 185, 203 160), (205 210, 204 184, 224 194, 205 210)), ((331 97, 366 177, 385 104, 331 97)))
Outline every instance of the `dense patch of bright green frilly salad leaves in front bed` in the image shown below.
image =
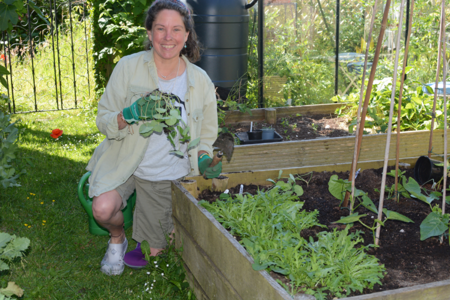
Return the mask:
POLYGON ((327 293, 342 297, 380 284, 384 266, 365 253, 367 247, 356 247, 363 241, 359 231, 349 233, 349 226, 323 231, 317 241, 301 236, 303 229, 325 226, 318 223, 317 210, 301 209, 304 202, 298 196, 303 189, 295 184, 297 178, 289 174, 287 182, 278 180, 255 195, 236 194, 226 201, 201 200, 199 204, 241 238, 239 243, 254 259, 253 269, 285 275, 290 284, 277 281, 292 295, 301 290, 317 298, 327 293))

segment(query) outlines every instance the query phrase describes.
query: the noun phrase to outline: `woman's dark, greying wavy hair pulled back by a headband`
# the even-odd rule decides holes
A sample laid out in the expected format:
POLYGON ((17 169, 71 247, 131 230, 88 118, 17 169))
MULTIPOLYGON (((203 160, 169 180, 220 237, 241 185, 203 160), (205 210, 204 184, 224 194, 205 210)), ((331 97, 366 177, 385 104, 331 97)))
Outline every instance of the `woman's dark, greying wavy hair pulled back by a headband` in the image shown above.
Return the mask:
MULTIPOLYGON (((191 17, 189 8, 187 8, 179 0, 156 0, 147 10, 144 26, 147 30, 151 30, 153 21, 162 9, 171 9, 177 11, 183 19, 184 27, 189 32, 186 41, 186 47, 182 48, 179 52, 180 55, 184 54, 190 62, 196 62, 200 60, 200 45, 197 39, 197 34, 194 30, 194 22, 191 17)), ((145 50, 150 49, 150 40, 145 42, 145 50)))

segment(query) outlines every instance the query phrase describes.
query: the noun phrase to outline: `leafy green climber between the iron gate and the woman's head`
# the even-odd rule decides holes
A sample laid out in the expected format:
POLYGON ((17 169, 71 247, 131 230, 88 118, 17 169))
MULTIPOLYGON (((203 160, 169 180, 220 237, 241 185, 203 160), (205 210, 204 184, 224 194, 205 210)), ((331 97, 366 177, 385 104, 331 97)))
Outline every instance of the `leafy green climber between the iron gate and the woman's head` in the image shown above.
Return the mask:
POLYGON ((95 90, 101 94, 119 57, 143 49, 143 22, 153 0, 91 1, 95 90))

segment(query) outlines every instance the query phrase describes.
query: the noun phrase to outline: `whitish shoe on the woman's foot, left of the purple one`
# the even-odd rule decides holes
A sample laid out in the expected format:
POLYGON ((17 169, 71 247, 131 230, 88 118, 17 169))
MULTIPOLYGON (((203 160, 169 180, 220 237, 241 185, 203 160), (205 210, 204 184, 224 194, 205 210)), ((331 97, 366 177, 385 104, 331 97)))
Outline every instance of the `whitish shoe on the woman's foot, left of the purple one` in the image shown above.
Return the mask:
POLYGON ((126 248, 128 247, 128 241, 125 240, 121 244, 111 244, 111 240, 108 240, 108 248, 104 254, 103 259, 100 262, 100 271, 107 275, 120 275, 125 268, 123 262, 123 256, 125 255, 126 248))

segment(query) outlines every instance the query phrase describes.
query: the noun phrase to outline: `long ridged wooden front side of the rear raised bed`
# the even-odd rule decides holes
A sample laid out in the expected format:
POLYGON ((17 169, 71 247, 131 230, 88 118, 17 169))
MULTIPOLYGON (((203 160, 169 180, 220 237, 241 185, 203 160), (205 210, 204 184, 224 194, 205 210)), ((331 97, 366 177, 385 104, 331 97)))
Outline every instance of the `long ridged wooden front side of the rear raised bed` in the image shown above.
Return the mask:
MULTIPOLYGON (((449 139, 450 140, 450 139, 449 139)), ((427 155, 429 130, 400 133, 400 159, 413 162, 427 155)), ((382 161, 386 134, 362 137, 359 162, 382 161)), ((443 153, 443 130, 434 130, 433 152, 443 153)), ((268 170, 311 165, 345 164, 353 158, 354 136, 283 141, 234 146, 231 160, 223 159, 223 172, 268 170)), ((389 159, 395 160, 395 138, 390 142, 389 159)), ((407 162, 407 161, 405 161, 407 162)), ((379 167, 379 166, 378 166, 379 167)))

